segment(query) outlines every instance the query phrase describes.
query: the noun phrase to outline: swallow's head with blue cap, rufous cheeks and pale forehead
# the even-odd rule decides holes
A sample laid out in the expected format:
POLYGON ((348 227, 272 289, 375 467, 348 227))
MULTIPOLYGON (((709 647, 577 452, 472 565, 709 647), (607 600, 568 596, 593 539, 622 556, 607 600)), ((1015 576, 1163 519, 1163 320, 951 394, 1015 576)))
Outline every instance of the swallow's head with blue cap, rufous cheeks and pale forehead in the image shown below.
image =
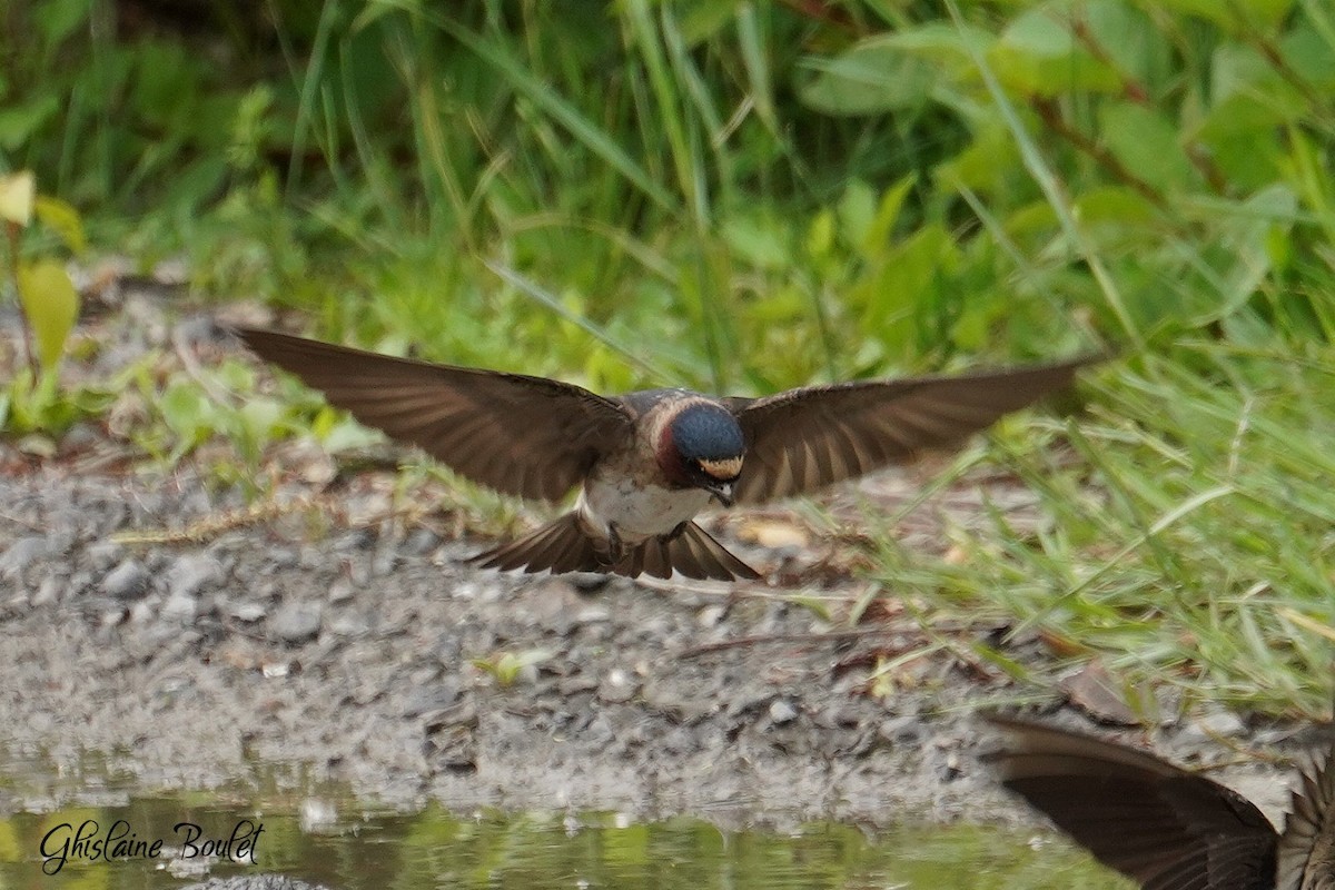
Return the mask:
POLYGON ((746 440, 733 412, 713 402, 692 402, 663 424, 658 466, 682 488, 704 488, 725 507, 742 471, 746 440))

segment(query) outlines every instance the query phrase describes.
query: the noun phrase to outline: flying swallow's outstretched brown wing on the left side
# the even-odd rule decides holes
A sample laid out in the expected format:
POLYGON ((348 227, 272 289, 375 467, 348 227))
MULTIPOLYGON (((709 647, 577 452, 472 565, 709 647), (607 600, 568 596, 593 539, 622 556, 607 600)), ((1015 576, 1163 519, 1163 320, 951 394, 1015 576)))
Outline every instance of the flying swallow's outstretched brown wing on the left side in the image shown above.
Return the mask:
POLYGON ((236 334, 330 404, 509 495, 559 500, 631 427, 615 402, 558 380, 395 359, 275 331, 236 334))

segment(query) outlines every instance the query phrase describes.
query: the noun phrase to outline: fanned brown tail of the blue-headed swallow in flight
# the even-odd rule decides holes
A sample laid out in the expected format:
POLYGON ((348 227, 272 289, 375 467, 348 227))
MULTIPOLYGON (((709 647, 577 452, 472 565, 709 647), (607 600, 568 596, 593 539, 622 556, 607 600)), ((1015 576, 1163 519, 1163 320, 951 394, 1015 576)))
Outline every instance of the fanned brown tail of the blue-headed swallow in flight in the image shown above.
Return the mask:
POLYGON ((669 578, 676 570, 686 578, 700 579, 760 578, 760 572, 728 552, 693 522, 686 523, 680 534, 649 538, 613 563, 606 550, 598 547, 598 542, 583 531, 575 512, 567 512, 518 540, 481 552, 469 562, 501 571, 522 568, 533 574, 550 570, 554 575, 566 571, 602 571, 626 578, 642 574, 669 578))

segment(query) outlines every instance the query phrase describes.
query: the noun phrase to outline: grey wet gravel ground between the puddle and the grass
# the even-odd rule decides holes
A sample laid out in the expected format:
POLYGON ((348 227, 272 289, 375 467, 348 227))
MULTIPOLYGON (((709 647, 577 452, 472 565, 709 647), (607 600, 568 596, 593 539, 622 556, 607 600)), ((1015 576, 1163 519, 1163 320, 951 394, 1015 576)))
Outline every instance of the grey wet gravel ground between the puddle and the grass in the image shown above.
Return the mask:
MULTIPOLYGON (((107 374, 150 347, 175 350, 188 371, 224 350, 207 316, 170 318, 159 298, 121 304, 84 331, 101 342, 100 364, 69 374, 107 374)), ((12 319, 0 332, 13 360, 12 319)), ((485 542, 405 519, 394 474, 328 471, 308 446, 284 446, 271 455, 272 503, 290 507, 266 512, 216 482, 207 450, 172 471, 119 459, 120 423, 76 427, 43 456, 0 442, 11 754, 77 765, 107 753, 156 789, 298 762, 405 806, 749 825, 1017 818, 975 762, 969 717, 1016 695, 1009 681, 939 654, 898 670, 894 694, 870 695, 878 658, 924 646, 917 623, 886 608, 841 632, 785 594, 829 598, 837 614, 865 582, 800 543, 748 543, 745 516, 716 530, 780 586, 502 575, 462 562, 485 542), (495 677, 506 667, 509 683, 495 677)), ((214 458, 230 448, 214 447, 214 458)), ((889 476, 864 494, 910 486, 889 476)), ((960 490, 922 512, 977 500, 960 490)), ((930 546, 933 522, 901 531, 930 546)), ((983 632, 959 631, 964 643, 983 632)), ((1044 656, 1035 642, 1008 654, 1044 656)), ((1219 737, 1244 746, 1286 733, 1211 713, 1156 743, 1214 762, 1230 754, 1219 737)), ((1283 775, 1259 762, 1227 773, 1271 810, 1283 775)))

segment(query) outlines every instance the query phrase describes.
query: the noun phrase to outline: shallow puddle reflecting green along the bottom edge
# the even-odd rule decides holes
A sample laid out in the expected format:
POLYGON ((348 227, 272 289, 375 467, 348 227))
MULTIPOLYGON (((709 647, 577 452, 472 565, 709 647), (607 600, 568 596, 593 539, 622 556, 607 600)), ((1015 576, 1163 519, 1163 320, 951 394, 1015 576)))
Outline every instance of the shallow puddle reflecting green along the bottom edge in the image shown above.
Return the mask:
POLYGON ((113 769, 24 766, 11 759, 0 779, 0 890, 166 889, 275 871, 339 890, 1131 886, 1059 839, 983 826, 776 833, 607 813, 405 814, 314 789, 299 770, 208 794, 147 795, 127 793, 134 779, 117 781, 113 769), (304 790, 280 790, 292 787, 304 790), (52 803, 71 797, 81 805, 52 803), (239 861, 208 855, 218 850, 239 861))

